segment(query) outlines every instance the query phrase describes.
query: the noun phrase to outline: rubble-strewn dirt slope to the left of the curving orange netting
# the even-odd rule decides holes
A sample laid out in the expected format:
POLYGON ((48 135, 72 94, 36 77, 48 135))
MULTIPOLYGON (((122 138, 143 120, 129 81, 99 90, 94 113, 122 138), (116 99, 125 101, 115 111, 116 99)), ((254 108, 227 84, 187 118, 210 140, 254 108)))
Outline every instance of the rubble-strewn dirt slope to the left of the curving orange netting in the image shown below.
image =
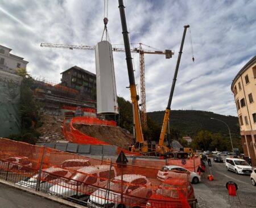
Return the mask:
POLYGON ((63 120, 59 117, 44 114, 41 121, 42 126, 36 128, 36 131, 40 133, 39 141, 56 142, 64 140, 62 130, 63 120))

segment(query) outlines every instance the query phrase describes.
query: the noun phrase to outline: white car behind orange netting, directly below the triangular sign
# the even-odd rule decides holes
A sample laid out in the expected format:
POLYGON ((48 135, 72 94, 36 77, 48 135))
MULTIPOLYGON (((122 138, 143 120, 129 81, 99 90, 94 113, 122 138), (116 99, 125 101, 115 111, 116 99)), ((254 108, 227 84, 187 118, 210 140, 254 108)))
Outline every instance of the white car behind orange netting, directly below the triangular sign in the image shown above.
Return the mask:
POLYGON ((126 207, 138 207, 138 205, 143 203, 146 205, 147 199, 150 198, 152 194, 150 186, 151 183, 146 176, 135 174, 125 174, 123 177, 117 176, 110 181, 110 191, 108 193, 106 193, 106 189, 98 189, 90 196, 87 202, 87 207, 125 207, 121 204, 121 193, 123 194, 123 204, 125 204, 126 207), (123 185, 123 192, 121 192, 121 180, 126 184, 123 185), (107 194, 108 202, 106 202, 105 197, 107 194), (108 203, 108 206, 106 206, 106 203, 108 203))

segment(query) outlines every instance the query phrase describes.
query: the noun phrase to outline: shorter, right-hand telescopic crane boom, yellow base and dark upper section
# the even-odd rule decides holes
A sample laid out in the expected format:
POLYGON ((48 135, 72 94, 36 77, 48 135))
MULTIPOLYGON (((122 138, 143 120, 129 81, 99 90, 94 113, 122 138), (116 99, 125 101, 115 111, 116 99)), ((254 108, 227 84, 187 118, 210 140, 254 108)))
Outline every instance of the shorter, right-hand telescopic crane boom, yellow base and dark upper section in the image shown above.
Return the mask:
POLYGON ((178 73, 179 66, 180 66, 180 58, 181 58, 181 54, 182 54, 182 50, 183 50, 183 44, 184 44, 187 28, 189 28, 189 25, 184 26, 184 31, 183 31, 183 37, 182 37, 182 40, 181 40, 179 56, 177 58, 177 64, 176 64, 176 69, 175 69, 175 73, 174 73, 174 79, 172 80, 172 88, 171 88, 171 92, 170 92, 170 96, 169 96, 169 100, 168 100, 168 104, 167 104, 167 108, 166 108, 166 113, 164 114, 162 130, 161 130, 159 143, 158 143, 158 145, 164 149, 164 152, 171 151, 167 146, 165 146, 163 144, 164 143, 164 135, 166 135, 167 124, 168 124, 168 120, 169 120, 169 116, 170 116, 170 112, 171 112, 172 96, 174 95, 174 88, 175 88, 175 83, 176 83, 176 80, 177 80, 177 73, 178 73))

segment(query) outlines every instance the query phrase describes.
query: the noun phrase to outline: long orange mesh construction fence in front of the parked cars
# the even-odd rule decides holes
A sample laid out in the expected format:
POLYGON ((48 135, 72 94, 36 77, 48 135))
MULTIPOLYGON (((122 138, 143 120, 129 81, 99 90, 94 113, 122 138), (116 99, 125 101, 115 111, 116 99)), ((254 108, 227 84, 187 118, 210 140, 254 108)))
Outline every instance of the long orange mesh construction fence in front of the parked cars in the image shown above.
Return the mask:
POLYGON ((0 139, 0 178, 88 207, 190 207, 189 172, 117 164, 0 139))

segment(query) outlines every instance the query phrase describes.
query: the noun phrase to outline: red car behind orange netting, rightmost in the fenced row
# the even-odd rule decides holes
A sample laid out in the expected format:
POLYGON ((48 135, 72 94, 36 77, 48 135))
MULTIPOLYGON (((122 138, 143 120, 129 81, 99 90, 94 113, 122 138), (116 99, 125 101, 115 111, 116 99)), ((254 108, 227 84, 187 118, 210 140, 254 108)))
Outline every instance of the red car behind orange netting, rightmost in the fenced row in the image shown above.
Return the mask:
POLYGON ((191 182, 187 180, 168 178, 150 197, 147 207, 183 207, 181 201, 187 199, 189 205, 196 207, 197 199, 191 182), (187 197, 184 196, 184 186, 187 186, 187 197))

